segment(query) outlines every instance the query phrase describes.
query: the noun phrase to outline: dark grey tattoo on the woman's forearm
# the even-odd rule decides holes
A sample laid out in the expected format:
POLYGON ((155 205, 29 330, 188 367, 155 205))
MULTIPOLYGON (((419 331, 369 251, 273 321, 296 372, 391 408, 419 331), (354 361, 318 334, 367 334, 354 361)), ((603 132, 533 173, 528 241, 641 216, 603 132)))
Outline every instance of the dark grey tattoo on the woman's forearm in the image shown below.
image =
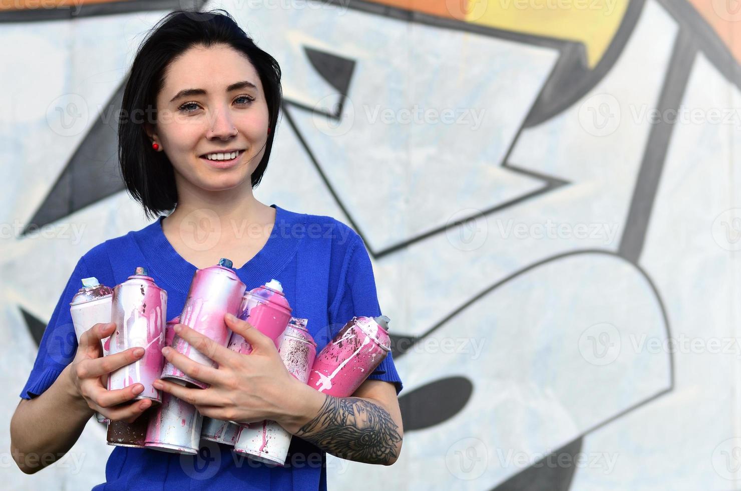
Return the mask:
POLYGON ((328 395, 316 417, 296 436, 339 458, 383 464, 397 457, 396 444, 402 441, 398 429, 391 415, 377 404, 328 395))

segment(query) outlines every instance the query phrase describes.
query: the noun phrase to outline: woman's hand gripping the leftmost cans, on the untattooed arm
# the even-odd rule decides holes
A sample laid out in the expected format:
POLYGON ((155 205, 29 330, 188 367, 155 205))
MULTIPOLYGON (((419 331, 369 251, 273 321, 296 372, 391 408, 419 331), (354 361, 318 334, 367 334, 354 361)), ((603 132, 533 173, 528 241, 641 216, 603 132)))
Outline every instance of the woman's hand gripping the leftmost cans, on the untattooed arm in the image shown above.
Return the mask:
POLYGON ((82 333, 75 359, 70 363, 67 374, 70 376, 75 395, 87 403, 93 411, 104 415, 110 421, 132 423, 144 412, 151 401, 131 401, 144 390, 141 383, 135 383, 124 389, 108 390, 103 386, 102 378, 116 369, 133 363, 144 355, 144 348, 130 348, 116 355, 103 356, 101 340, 110 336, 116 329, 116 323, 97 323, 82 333))

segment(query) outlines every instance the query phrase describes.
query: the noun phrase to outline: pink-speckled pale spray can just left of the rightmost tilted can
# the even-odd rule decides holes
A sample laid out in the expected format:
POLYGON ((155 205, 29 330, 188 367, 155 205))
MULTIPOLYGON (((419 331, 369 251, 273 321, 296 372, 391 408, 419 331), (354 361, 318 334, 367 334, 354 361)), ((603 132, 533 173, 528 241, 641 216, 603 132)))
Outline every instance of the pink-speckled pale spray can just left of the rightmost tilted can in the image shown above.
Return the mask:
MULTIPOLYGON (((278 352, 291 375, 307 383, 314 358, 316 343, 306 329, 308 320, 291 317, 288 327, 280 337, 278 352)), ((239 435, 234 452, 247 455, 253 461, 285 465, 290 438, 293 436, 275 421, 260 421, 239 425, 239 435)))

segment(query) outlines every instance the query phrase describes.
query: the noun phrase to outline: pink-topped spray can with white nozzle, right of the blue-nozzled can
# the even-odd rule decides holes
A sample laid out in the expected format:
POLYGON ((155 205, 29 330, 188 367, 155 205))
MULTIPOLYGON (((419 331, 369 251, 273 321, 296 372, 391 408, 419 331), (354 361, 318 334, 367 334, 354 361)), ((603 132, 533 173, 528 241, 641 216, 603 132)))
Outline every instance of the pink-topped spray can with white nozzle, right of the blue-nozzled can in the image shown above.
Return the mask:
MULTIPOLYGON (((282 285, 278 280, 270 280, 263 286, 245 292, 237 317, 247 320, 259 332, 270 337, 277 348, 280 343, 279 338, 288 326, 290 312, 291 309, 283 294, 282 285)), ((249 355, 252 352, 250 343, 247 343, 247 340, 236 332, 231 333, 227 346, 242 355, 249 355)), ((204 418, 203 428, 203 438, 220 443, 225 443, 221 440, 228 438, 231 444, 238 430, 233 422, 214 422, 211 418, 204 418), (219 440, 216 440, 216 435, 220 435, 219 440)))

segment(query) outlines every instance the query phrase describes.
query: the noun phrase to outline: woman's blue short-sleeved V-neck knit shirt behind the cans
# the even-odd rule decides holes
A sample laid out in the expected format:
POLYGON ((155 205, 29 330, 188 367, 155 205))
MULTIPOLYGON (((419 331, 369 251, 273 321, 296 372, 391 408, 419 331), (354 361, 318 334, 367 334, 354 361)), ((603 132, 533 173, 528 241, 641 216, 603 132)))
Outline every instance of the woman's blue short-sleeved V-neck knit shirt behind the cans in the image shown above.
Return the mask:
MULTIPOLYGON (((371 260, 362 238, 331 217, 298 214, 276 205, 276 222, 265 246, 236 274, 253 289, 272 278, 282 283, 294 317, 308 319, 317 352, 353 316, 381 314, 371 260)), ((76 353, 70 301, 82 278, 97 277, 113 288, 144 266, 167 291, 167 319, 179 315, 196 266, 183 259, 162 232, 162 217, 139 231, 106 240, 79 260, 57 303, 39 354, 21 392, 30 399, 48 389, 76 353)), ((391 353, 368 376, 402 381, 391 353)), ((293 437, 285 467, 238 457, 230 446, 202 441, 199 455, 116 446, 108 458, 106 483, 94 490, 326 490, 326 455, 293 437)))

